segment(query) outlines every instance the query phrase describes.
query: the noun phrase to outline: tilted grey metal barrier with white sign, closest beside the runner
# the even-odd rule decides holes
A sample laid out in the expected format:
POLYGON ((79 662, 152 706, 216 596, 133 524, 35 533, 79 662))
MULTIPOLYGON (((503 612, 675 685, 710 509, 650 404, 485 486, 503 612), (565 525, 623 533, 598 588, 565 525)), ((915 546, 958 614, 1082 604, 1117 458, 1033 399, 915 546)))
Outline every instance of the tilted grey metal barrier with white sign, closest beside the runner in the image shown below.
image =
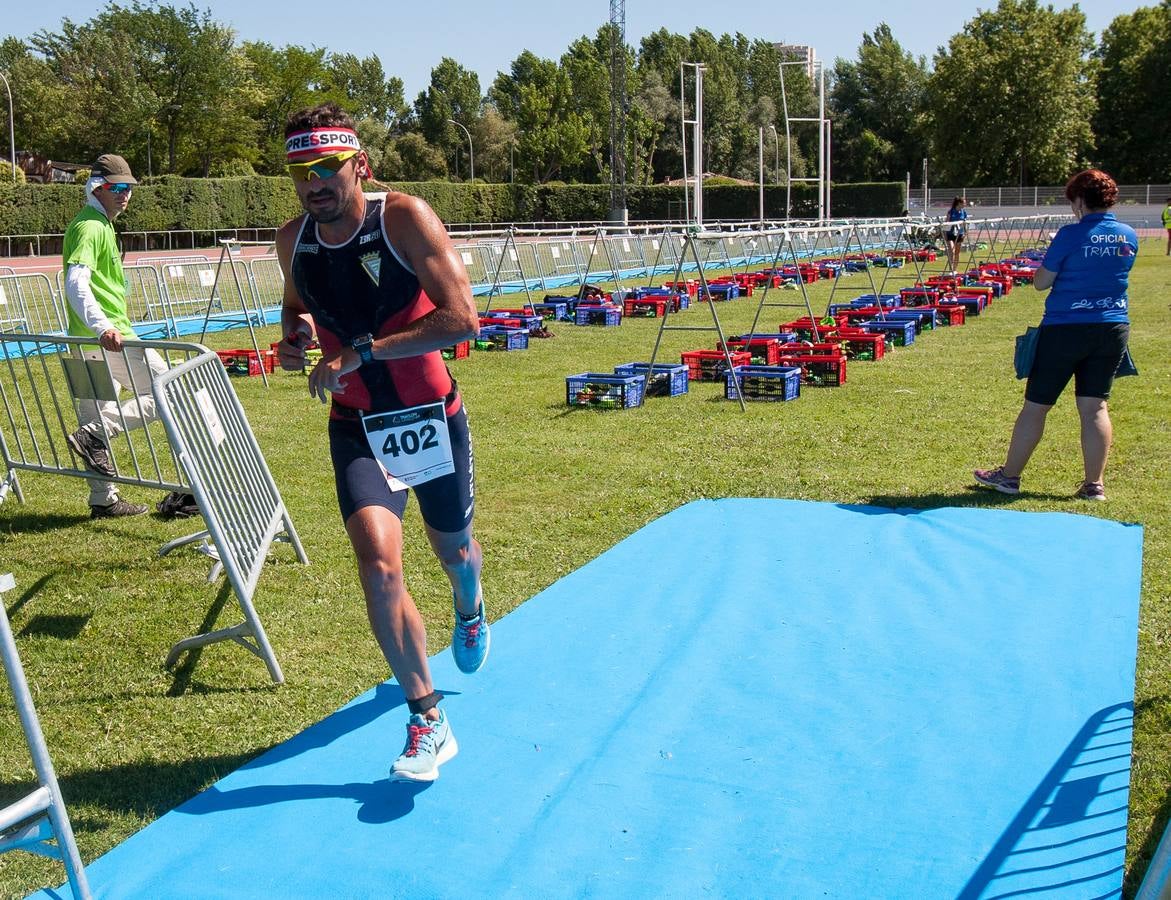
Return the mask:
POLYGON ((207 523, 204 536, 214 542, 212 555, 222 565, 245 618, 238 625, 180 640, 166 665, 186 651, 232 640, 265 660, 273 681, 281 683, 285 675, 256 614, 253 592, 279 536, 293 544, 297 559, 309 559, 260 445, 215 353, 203 353, 159 376, 155 397, 207 523))

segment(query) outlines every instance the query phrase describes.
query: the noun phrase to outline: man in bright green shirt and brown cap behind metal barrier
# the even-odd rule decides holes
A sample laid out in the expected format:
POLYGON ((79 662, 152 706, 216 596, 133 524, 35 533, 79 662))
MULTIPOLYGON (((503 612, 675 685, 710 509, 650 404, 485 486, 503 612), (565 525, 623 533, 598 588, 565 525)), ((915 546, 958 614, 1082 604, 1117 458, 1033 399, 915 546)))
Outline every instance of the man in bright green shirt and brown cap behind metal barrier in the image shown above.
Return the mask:
POLYGON ((126 315, 126 282, 114 220, 129 206, 136 184, 125 159, 114 153, 100 156, 85 183, 85 207, 69 222, 62 248, 69 334, 97 338, 101 350, 83 355, 104 359, 115 390, 135 394, 123 404, 77 401, 81 427, 66 440, 87 469, 105 476, 89 479, 89 509, 94 518, 138 516, 146 511, 145 506, 118 496, 117 485, 105 480, 117 474, 110 440, 158 417, 151 382, 166 371, 166 363, 156 351, 123 344, 137 335, 126 315))

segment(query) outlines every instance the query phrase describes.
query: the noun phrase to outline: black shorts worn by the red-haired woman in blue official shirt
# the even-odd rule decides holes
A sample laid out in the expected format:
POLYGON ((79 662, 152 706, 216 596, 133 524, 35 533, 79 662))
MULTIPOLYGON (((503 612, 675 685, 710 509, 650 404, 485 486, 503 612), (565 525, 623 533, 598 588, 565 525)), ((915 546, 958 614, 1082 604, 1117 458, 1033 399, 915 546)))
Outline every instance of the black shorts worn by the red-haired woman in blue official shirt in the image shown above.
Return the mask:
POLYGON ((1109 399, 1129 336, 1124 322, 1041 325, 1025 399, 1053 406, 1070 378, 1075 396, 1109 399))

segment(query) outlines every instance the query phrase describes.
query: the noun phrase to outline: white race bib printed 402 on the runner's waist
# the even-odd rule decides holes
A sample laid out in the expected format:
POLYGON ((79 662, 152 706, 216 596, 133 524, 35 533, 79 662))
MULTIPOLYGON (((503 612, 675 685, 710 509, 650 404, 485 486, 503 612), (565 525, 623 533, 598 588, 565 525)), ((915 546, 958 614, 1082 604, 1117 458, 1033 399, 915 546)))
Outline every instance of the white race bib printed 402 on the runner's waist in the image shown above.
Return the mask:
POLYGON ((412 488, 456 470, 443 400, 363 415, 362 426, 391 490, 412 488))

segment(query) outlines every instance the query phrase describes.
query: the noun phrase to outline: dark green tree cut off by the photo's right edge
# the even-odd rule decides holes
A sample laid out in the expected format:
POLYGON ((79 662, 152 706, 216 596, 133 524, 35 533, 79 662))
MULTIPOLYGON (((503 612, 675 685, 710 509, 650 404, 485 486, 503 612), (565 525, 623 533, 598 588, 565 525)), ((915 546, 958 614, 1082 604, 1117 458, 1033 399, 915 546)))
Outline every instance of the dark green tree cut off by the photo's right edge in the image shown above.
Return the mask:
POLYGON ((1127 181, 1171 180, 1171 0, 1116 18, 1096 56, 1098 160, 1127 181))

